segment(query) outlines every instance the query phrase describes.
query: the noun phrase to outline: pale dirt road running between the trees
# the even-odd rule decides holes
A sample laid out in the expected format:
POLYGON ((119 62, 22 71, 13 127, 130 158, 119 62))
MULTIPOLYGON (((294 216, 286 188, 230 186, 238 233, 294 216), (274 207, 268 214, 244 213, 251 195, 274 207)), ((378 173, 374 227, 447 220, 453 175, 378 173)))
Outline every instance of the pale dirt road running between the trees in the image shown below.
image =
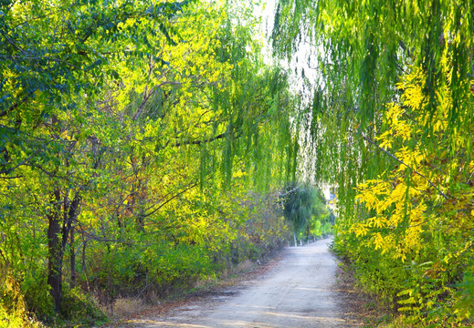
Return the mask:
POLYGON ((330 240, 289 248, 264 277, 243 282, 206 302, 186 305, 167 317, 133 321, 140 327, 332 328, 358 324, 342 319, 335 287, 337 263, 330 240))

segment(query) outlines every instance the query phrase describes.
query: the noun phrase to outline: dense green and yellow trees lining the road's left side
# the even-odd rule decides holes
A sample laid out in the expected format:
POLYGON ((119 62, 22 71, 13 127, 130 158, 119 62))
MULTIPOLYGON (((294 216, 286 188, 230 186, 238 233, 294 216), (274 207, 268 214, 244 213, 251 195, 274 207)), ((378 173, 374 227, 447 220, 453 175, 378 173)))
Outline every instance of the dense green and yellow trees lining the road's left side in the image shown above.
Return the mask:
POLYGON ((287 238, 299 107, 250 14, 1 3, 0 325, 91 324, 84 292, 163 296, 287 238))

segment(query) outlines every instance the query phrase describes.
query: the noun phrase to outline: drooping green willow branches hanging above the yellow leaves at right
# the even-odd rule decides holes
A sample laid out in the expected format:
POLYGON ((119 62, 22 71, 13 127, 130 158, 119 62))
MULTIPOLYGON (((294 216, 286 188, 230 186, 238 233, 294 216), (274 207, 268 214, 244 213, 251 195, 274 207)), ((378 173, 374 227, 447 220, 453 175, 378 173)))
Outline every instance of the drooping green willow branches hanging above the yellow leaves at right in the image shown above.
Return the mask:
MULTIPOLYGON (((426 140, 433 130, 443 97, 453 99, 449 132, 462 135, 469 129, 473 14, 472 3, 460 0, 279 1, 272 33, 275 53, 290 58, 310 39, 318 57, 323 87, 314 87, 307 125, 319 154, 314 162, 319 178, 339 180, 347 187, 340 192, 351 200, 356 181, 396 165, 380 150, 369 150, 363 134, 374 138, 384 104, 400 97, 395 84, 410 67, 425 72, 427 106, 417 113, 419 139, 426 140)), ((454 139, 445 146, 454 149, 454 139)))

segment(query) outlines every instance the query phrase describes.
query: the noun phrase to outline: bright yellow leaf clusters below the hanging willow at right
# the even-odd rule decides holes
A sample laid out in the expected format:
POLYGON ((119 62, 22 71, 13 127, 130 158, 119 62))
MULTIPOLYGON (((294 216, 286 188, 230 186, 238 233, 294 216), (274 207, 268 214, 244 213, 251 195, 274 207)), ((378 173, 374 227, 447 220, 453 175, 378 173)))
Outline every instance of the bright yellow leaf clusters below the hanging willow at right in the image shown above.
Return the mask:
MULTIPOLYGON (((410 259, 416 258, 416 254, 425 246, 423 234, 432 231, 437 222, 443 221, 439 214, 433 215, 432 212, 433 204, 446 201, 439 193, 439 190, 446 190, 442 184, 454 182, 464 169, 469 169, 471 174, 474 168, 473 161, 465 167, 460 158, 441 161, 437 155, 428 155, 422 143, 415 146, 408 143, 419 138, 421 131, 419 125, 414 124, 409 115, 406 115, 406 108, 414 111, 410 115, 425 110, 425 81, 421 67, 412 67, 411 72, 397 85, 403 90, 400 104, 390 103, 386 106, 383 118, 385 128, 378 131, 375 139, 381 148, 393 149, 395 158, 399 159, 401 164, 392 171, 385 172, 379 179, 365 180, 358 185, 355 199, 363 203, 366 210, 371 211, 371 215, 362 222, 353 223, 349 230, 356 237, 367 236, 375 250, 390 253, 393 259, 402 262, 406 261, 408 256, 410 259), (450 174, 436 169, 441 166, 450 174), (437 185, 438 190, 435 190, 433 185, 437 185)), ((432 125, 435 127, 434 134, 427 138, 437 138, 437 134, 442 133, 448 125, 451 98, 447 90, 439 91, 437 97, 442 98, 443 106, 434 116, 426 118, 432 119, 432 125)), ((453 138, 465 140, 465 136, 456 135, 456 131, 454 133, 453 138)), ((459 147, 462 149, 465 144, 459 147)), ((444 151, 441 156, 447 158, 449 154, 444 151)), ((446 212, 458 213, 458 219, 453 223, 457 228, 450 228, 448 233, 455 233, 458 229, 472 231, 474 210, 468 200, 468 195, 471 194, 472 191, 458 193, 457 201, 449 202, 448 206, 443 208, 446 212), (470 215, 463 214, 466 209, 469 209, 470 215)), ((459 255, 449 254, 444 261, 448 262, 459 255)))

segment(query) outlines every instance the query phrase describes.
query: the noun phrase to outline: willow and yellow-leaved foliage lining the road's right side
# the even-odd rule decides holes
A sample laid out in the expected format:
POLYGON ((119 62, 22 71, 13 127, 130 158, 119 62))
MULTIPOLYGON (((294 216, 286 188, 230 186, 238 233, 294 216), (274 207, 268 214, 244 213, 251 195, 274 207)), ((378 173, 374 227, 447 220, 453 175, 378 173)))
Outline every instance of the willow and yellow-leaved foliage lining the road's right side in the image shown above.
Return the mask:
POLYGON ((276 55, 310 47, 318 64, 304 142, 338 187, 338 245, 415 321, 473 309, 473 15, 456 0, 279 1, 275 15, 276 55))

